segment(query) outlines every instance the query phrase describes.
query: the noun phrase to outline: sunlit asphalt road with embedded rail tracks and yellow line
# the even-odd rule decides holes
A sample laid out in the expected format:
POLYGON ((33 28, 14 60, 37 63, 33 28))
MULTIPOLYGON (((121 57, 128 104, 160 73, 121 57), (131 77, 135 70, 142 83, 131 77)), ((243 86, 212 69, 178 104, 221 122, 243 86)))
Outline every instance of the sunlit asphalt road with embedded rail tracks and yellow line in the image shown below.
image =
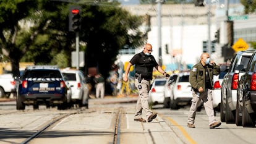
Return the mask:
MULTIPOLYGON (((237 127, 222 123, 217 129, 209 129, 208 117, 204 109, 197 112, 195 129, 187 127, 189 106, 171 110, 163 106, 153 106, 158 113, 152 122, 135 122, 134 109, 137 97, 90 99, 88 109, 79 109, 78 114, 66 117, 51 129, 30 143, 113 143, 113 131, 117 109, 122 109, 120 143, 255 143, 255 128, 237 127)), ((0 103, 0 143, 20 143, 26 137, 53 117, 77 111, 58 111, 40 106, 34 111, 32 106, 25 111, 15 110, 15 101, 0 103), (23 134, 21 134, 23 133, 23 134)), ((145 118, 145 117, 144 117, 145 118)), ((220 119, 217 112, 216 119, 220 119)))

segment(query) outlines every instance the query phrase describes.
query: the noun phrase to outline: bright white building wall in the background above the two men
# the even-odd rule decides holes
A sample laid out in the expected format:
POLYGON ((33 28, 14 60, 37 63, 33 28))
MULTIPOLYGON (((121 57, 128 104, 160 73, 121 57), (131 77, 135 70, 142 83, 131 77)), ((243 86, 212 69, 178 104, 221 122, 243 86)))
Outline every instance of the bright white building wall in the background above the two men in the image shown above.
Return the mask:
MULTIPOLYGON (((215 25, 211 25, 211 33, 215 33, 215 25)), ((172 49, 182 49, 182 63, 196 64, 200 55, 203 53, 202 41, 208 40, 208 25, 184 25, 181 26, 162 27, 162 57, 163 64, 171 64, 177 59, 170 54, 165 54, 165 44, 168 44, 169 52, 172 49)), ((214 40, 214 35, 211 35, 214 40)), ((148 43, 153 46, 153 56, 158 61, 158 27, 152 27, 148 33, 148 43)))

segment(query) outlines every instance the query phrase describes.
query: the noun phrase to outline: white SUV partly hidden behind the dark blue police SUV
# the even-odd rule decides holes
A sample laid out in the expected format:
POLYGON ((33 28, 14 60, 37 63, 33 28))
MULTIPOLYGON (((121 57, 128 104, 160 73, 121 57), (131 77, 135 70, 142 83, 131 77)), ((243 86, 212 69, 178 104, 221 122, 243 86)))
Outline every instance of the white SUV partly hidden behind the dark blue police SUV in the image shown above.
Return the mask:
POLYGON ((83 72, 77 69, 63 69, 61 70, 64 80, 71 87, 71 100, 74 104, 79 104, 80 107, 88 108, 88 88, 83 72))

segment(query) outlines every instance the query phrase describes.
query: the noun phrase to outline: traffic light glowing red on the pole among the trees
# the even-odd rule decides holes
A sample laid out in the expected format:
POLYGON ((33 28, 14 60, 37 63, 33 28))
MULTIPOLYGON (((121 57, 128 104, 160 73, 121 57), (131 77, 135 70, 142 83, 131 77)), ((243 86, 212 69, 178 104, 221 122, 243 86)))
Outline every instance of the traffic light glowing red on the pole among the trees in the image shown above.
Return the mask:
POLYGON ((81 7, 70 6, 69 7, 69 31, 79 32, 81 30, 81 7))

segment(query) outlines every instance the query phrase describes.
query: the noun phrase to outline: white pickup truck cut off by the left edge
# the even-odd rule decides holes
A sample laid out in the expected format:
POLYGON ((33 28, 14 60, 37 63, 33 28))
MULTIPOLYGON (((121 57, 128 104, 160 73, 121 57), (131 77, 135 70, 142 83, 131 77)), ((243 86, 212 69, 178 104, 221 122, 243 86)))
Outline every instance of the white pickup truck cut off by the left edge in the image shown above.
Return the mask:
POLYGON ((0 98, 9 97, 15 92, 15 80, 12 74, 0 75, 0 98))

